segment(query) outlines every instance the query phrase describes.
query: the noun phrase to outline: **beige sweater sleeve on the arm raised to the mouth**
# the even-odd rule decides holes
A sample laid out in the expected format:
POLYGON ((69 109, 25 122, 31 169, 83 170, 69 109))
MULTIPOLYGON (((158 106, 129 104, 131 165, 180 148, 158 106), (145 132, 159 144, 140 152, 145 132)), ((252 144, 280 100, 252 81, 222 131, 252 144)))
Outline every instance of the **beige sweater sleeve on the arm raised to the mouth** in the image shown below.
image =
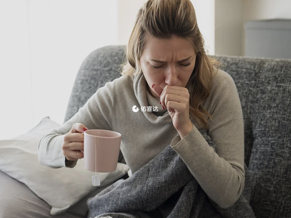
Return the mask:
POLYGON ((209 136, 217 146, 217 153, 194 125, 182 140, 176 136, 171 147, 208 197, 227 208, 238 200, 245 181, 242 107, 230 75, 216 87, 210 99, 209 136))

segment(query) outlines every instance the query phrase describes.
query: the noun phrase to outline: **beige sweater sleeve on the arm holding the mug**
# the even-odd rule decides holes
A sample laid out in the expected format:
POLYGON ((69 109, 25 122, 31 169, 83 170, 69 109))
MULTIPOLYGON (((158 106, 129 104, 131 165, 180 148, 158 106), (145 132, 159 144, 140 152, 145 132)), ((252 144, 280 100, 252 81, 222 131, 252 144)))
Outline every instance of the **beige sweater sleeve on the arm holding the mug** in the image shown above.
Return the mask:
POLYGON ((38 144, 38 159, 42 165, 50 168, 73 168, 76 161, 70 161, 63 155, 64 136, 73 124, 81 123, 88 129, 111 130, 111 117, 114 106, 114 80, 100 87, 78 112, 63 125, 44 135, 38 144))

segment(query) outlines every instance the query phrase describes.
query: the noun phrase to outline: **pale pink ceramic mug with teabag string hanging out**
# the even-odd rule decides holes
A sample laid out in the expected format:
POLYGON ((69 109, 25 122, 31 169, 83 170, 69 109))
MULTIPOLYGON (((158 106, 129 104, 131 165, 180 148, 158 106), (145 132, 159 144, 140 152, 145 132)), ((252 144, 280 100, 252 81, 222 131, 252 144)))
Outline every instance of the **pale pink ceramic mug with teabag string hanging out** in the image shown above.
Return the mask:
POLYGON ((85 169, 94 172, 114 172, 120 144, 121 134, 118 132, 105 129, 86 130, 83 152, 85 169))

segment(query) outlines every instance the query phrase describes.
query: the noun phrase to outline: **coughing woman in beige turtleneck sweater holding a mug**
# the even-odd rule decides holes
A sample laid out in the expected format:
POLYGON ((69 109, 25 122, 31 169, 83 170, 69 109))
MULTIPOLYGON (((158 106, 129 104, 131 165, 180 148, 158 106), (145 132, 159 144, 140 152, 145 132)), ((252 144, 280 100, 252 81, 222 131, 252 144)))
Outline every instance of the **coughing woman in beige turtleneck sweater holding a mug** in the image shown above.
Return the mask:
POLYGON ((170 144, 211 200, 222 208, 234 204, 244 188, 241 102, 233 79, 206 55, 191 1, 148 0, 126 57, 120 78, 42 138, 41 163, 72 168, 83 158, 81 133, 109 129, 122 134, 132 173, 170 144), (158 111, 145 110, 154 106, 158 111), (217 153, 200 128, 208 129, 217 153))

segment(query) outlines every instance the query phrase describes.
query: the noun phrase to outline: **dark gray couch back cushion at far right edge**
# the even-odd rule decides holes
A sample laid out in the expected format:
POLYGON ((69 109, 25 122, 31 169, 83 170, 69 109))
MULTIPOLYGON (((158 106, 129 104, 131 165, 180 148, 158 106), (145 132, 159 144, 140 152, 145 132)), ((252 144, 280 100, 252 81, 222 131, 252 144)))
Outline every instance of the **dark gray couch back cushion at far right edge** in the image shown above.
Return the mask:
POLYGON ((261 70, 253 106, 252 204, 261 217, 291 217, 291 60, 261 70), (274 210, 275 208, 275 210, 274 210))

